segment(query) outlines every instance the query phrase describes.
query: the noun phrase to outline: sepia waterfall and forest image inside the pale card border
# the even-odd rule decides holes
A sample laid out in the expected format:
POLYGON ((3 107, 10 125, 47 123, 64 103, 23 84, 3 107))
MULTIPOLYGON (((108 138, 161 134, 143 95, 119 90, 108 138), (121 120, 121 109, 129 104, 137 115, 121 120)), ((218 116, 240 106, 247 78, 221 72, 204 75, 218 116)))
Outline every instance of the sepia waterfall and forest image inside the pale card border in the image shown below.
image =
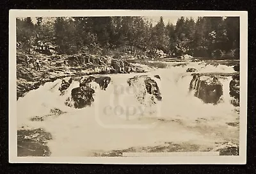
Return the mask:
POLYGON ((184 14, 15 17, 17 157, 241 155, 241 19, 184 14))

